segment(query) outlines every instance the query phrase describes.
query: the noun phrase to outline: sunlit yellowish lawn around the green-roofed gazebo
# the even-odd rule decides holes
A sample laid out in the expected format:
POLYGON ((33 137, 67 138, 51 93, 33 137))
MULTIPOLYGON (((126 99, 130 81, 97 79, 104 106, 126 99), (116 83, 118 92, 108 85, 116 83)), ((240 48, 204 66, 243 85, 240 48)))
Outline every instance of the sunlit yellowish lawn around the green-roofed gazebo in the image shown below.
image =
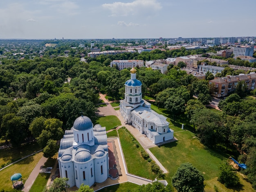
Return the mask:
POLYGON ((6 167, 4 170, 0 171, 0 191, 11 190, 13 188, 10 178, 14 173, 20 173, 22 175, 22 181, 23 183, 25 183, 27 178, 29 177, 29 174, 32 172, 32 170, 34 169, 38 161, 42 158, 42 156, 43 152, 37 153, 33 156, 29 156, 26 159, 23 159, 22 161, 19 161, 18 163, 10 165, 9 167, 6 167))

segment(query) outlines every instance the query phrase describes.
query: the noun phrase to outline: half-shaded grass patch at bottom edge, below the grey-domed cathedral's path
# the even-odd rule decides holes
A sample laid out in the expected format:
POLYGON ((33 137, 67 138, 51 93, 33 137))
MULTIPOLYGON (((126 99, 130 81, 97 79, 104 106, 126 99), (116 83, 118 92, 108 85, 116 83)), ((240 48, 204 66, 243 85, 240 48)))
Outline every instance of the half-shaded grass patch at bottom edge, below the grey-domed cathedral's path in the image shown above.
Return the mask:
POLYGON ((117 185, 112 185, 106 188, 103 188, 102 190, 99 190, 98 192, 126 192, 126 191, 133 191, 138 188, 139 185, 135 183, 125 182, 120 183, 117 185))

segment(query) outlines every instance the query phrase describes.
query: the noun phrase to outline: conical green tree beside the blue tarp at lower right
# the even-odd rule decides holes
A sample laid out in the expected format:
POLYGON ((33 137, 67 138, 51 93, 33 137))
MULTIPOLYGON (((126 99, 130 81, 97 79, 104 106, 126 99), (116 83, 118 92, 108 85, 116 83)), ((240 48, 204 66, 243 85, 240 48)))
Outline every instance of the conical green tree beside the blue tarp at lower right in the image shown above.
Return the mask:
POLYGON ((217 180, 224 184, 227 188, 236 187, 240 184, 239 177, 228 163, 220 165, 220 172, 218 174, 217 180))

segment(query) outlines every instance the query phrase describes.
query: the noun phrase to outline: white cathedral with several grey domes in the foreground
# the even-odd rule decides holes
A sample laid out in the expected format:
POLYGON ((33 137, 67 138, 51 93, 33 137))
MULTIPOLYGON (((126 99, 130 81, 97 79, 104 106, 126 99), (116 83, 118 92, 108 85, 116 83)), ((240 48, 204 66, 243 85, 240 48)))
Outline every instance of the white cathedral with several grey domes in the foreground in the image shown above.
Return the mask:
POLYGON ((61 139, 58 165, 61 177, 69 179, 70 187, 106 181, 109 176, 106 127, 99 124, 93 127, 87 116, 76 118, 61 139))

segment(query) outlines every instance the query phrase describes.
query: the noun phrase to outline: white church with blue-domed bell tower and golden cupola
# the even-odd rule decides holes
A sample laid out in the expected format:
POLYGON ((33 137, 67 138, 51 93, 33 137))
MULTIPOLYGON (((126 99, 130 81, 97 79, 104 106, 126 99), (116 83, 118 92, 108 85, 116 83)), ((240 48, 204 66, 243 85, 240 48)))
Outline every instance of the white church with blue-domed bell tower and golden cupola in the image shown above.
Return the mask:
POLYGON ((136 79, 136 69, 130 70, 131 78, 126 81, 124 100, 120 100, 120 114, 125 121, 146 135, 153 143, 173 139, 166 117, 150 109, 150 103, 142 99, 141 81, 136 79))

